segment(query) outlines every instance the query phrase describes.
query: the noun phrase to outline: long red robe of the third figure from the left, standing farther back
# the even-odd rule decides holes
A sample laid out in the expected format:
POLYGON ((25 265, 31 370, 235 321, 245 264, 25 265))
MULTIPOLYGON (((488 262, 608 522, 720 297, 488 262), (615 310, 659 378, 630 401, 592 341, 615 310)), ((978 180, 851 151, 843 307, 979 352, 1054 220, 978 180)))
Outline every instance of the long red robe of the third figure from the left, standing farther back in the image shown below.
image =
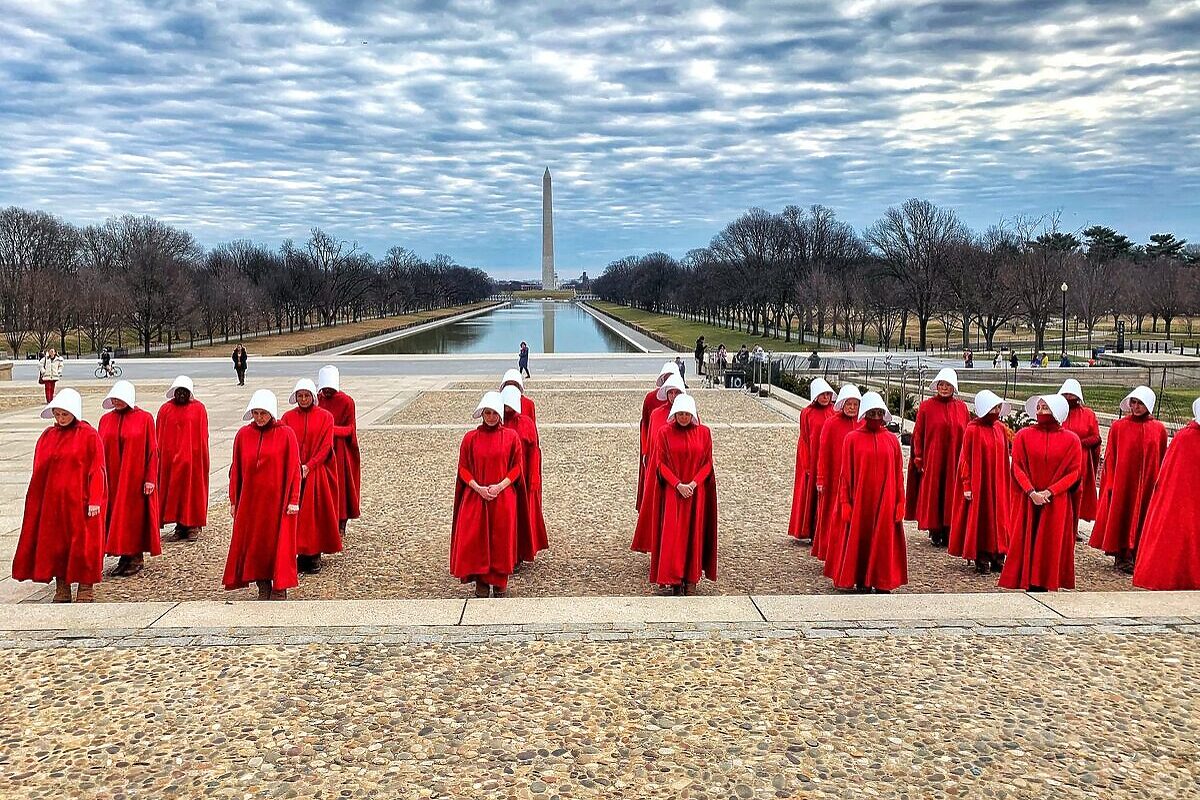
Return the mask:
POLYGON ((197 399, 158 409, 158 512, 164 525, 209 522, 209 414, 197 399))

